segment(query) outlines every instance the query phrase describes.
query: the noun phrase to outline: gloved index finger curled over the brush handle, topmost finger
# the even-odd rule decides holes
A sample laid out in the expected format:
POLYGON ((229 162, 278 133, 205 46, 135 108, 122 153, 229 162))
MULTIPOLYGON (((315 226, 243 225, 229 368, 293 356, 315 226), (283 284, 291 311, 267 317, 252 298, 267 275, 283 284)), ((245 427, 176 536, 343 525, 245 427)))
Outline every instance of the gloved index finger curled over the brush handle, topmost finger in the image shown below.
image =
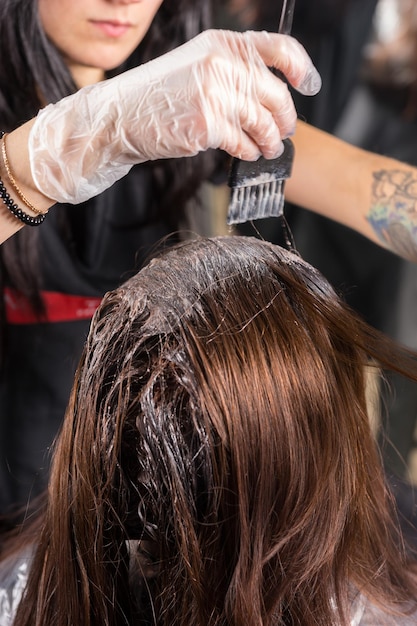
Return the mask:
POLYGON ((282 72, 288 82, 304 95, 315 95, 321 88, 320 74, 303 46, 289 35, 248 31, 243 37, 254 45, 263 62, 282 72))

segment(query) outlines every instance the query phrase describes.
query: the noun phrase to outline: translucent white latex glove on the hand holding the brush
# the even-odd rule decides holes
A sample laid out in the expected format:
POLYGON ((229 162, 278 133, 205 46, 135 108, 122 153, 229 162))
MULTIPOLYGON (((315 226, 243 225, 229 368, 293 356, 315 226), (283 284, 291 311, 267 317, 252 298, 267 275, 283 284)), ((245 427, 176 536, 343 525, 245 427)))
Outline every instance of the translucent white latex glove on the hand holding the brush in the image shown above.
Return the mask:
POLYGON ((292 37, 210 30, 158 59, 42 109, 29 136, 39 191, 77 204, 135 163, 221 148, 278 156, 296 111, 273 66, 306 95, 321 80, 292 37))

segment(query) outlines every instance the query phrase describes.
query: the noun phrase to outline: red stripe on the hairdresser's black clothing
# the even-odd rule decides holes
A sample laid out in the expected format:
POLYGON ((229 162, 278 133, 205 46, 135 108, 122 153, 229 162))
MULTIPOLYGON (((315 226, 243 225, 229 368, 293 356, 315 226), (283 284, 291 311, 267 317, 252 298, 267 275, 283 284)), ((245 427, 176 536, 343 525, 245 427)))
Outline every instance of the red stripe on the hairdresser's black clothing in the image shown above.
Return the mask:
POLYGON ((94 315, 101 298, 73 296, 56 291, 41 291, 45 315, 35 313, 29 300, 15 289, 6 287, 4 300, 9 324, 39 324, 39 322, 71 322, 88 320, 94 315))

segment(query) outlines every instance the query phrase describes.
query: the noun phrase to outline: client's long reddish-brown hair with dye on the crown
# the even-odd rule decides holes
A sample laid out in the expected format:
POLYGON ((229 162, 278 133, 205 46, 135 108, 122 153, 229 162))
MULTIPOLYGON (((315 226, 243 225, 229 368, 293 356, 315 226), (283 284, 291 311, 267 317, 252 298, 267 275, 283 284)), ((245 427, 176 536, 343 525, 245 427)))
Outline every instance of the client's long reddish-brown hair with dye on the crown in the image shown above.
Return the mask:
POLYGON ((371 434, 393 351, 294 254, 187 242, 100 306, 16 626, 349 623, 416 589, 371 434))

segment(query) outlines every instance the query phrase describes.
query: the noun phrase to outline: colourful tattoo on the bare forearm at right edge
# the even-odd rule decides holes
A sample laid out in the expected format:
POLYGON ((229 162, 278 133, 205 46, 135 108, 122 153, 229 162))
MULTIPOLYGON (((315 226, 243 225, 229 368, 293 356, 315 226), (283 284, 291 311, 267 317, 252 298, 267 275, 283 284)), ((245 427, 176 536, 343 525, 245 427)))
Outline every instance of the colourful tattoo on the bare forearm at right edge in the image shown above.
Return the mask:
POLYGON ((374 172, 367 220, 383 245, 417 262, 417 175, 413 171, 374 172))

